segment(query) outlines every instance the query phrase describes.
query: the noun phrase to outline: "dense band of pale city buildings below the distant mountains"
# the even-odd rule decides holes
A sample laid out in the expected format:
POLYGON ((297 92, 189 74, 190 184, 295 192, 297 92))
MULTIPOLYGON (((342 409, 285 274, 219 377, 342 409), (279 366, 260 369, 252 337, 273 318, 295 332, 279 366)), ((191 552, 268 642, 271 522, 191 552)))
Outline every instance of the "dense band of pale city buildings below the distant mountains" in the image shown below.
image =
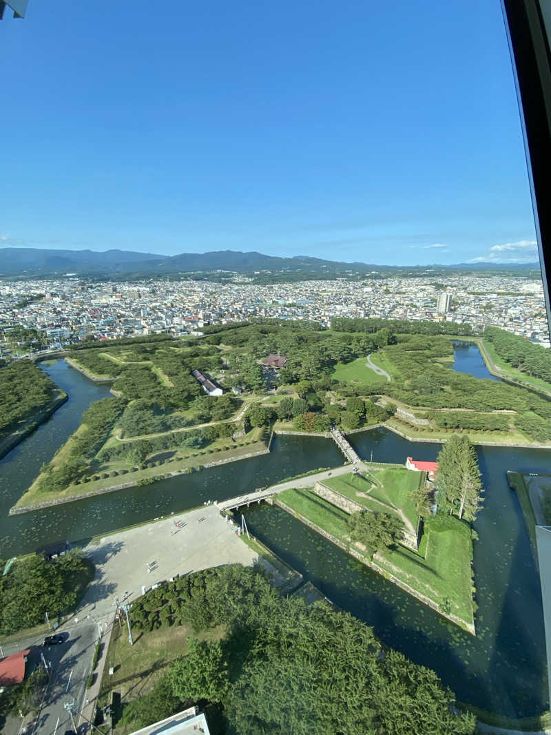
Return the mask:
POLYGON ((482 331, 497 326, 550 346, 541 280, 472 276, 345 279, 258 286, 247 276, 230 282, 144 279, 86 282, 66 277, 0 282, 0 330, 43 333, 44 346, 147 334, 201 334, 210 324, 248 319, 310 320, 329 327, 335 317, 447 320, 482 331))

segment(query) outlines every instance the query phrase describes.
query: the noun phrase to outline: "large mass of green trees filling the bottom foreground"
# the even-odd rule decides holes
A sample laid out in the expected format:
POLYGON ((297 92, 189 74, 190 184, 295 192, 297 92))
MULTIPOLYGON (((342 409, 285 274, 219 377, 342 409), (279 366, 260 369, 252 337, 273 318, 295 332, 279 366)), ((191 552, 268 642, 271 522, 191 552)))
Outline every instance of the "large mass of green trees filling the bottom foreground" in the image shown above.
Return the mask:
POLYGON ((281 598, 256 570, 231 565, 178 578, 134 603, 132 625, 151 631, 224 625, 221 641, 190 640, 152 692, 127 704, 121 724, 144 727, 198 701, 223 707, 228 734, 339 732, 461 735, 436 673, 385 649, 372 629, 325 603, 281 598))

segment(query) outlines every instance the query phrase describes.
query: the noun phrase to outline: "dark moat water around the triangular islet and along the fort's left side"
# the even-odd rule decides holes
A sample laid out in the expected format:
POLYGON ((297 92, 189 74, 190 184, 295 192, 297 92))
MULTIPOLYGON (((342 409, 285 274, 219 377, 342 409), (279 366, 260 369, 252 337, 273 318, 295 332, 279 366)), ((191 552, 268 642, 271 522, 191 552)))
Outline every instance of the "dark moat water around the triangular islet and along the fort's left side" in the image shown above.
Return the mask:
MULTIPOLYGON (((0 460, 0 556, 4 559, 33 551, 43 542, 82 540, 206 500, 240 495, 309 469, 342 464, 331 440, 276 437, 267 455, 9 517, 10 506, 76 429, 84 409, 109 395, 108 387, 91 383, 65 362, 42 367, 68 392, 69 401, 0 460)), ((403 462, 408 455, 435 459, 439 451, 439 445, 408 442, 386 429, 355 434, 351 440, 360 456, 370 459, 373 453, 373 459, 381 462, 403 462)), ((539 714, 547 707, 539 576, 505 472, 549 471, 551 452, 480 447, 478 455, 486 492, 484 509, 475 523, 480 537, 474 560, 477 637, 444 623, 431 609, 281 510, 256 506, 245 517, 259 539, 336 605, 372 625, 386 644, 436 670, 460 700, 511 717, 539 714)))

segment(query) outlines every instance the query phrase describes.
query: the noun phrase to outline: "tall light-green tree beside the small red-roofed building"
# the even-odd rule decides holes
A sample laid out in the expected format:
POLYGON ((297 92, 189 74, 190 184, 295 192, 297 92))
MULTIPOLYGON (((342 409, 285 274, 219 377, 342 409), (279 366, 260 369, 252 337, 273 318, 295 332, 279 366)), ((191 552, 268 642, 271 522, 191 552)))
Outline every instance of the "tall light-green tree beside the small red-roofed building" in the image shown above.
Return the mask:
POLYGON ((439 451, 436 487, 442 511, 475 520, 483 488, 475 447, 469 437, 453 434, 439 451))

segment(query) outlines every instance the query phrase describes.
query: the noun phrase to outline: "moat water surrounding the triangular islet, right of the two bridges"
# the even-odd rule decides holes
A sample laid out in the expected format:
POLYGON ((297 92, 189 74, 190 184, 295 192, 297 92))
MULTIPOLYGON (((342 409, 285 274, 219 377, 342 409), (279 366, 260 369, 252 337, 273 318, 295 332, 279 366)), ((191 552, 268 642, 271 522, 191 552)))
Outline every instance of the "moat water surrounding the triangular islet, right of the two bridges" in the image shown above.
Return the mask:
MULTIPOLYGON (((439 445, 407 442, 386 430, 356 434, 361 456, 381 462, 413 455, 435 459, 439 445)), ((475 523, 477 636, 444 623, 428 607, 359 564, 278 508, 247 512, 251 533, 266 543, 336 605, 372 625, 386 644, 431 667, 460 700, 509 717, 547 707, 547 665, 539 576, 519 503, 505 470, 544 471, 550 453, 480 448, 486 487, 475 523)))

